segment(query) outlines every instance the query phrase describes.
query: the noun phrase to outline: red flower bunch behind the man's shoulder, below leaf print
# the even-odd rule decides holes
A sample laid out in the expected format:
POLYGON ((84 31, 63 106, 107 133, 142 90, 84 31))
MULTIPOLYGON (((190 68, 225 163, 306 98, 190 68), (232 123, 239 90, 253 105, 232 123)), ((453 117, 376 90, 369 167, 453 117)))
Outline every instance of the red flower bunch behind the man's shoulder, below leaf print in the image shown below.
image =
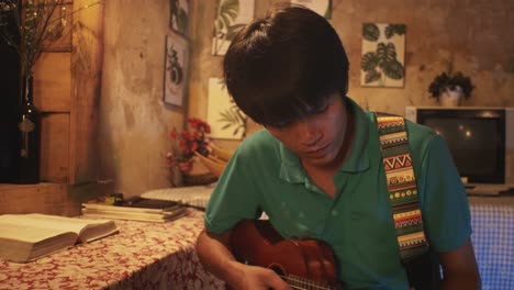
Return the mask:
POLYGON ((192 169, 192 158, 198 152, 203 156, 209 155, 209 144, 211 140, 211 126, 203 120, 198 118, 188 118, 188 129, 178 134, 177 129, 170 132, 170 138, 174 142, 172 149, 166 154, 167 167, 187 174, 192 169))

